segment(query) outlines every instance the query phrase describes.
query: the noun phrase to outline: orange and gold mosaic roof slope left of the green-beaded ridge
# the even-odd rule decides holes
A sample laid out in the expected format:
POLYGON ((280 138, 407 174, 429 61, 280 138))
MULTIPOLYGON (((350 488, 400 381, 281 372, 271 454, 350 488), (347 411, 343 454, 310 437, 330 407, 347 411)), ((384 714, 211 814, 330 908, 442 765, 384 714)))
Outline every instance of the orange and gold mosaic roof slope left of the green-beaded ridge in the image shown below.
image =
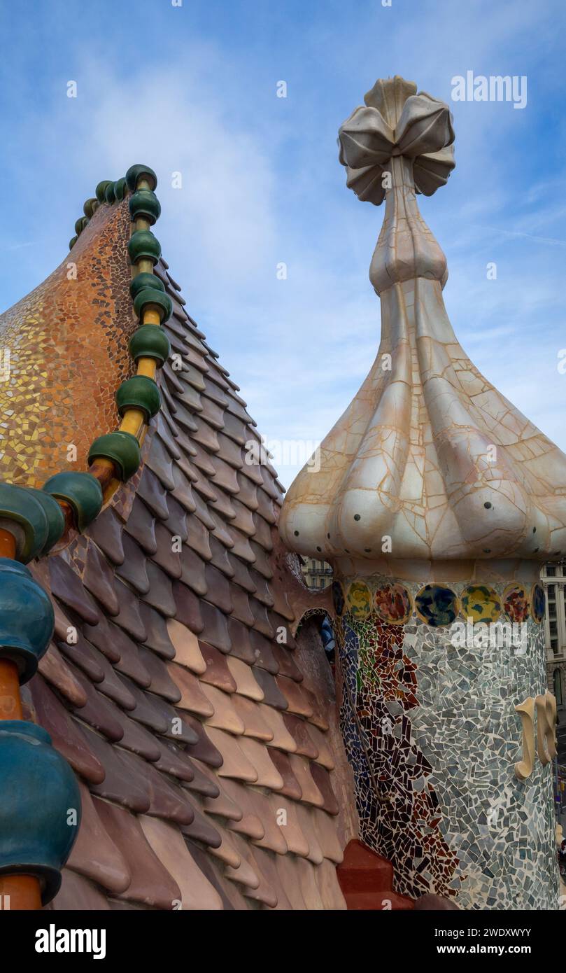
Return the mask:
POLYGON ((0 381, 0 477, 42 486, 86 469, 96 436, 117 425, 115 393, 133 374, 127 200, 100 206, 59 267, 0 315, 10 378, 0 381), (68 448, 76 448, 74 453, 68 448))

